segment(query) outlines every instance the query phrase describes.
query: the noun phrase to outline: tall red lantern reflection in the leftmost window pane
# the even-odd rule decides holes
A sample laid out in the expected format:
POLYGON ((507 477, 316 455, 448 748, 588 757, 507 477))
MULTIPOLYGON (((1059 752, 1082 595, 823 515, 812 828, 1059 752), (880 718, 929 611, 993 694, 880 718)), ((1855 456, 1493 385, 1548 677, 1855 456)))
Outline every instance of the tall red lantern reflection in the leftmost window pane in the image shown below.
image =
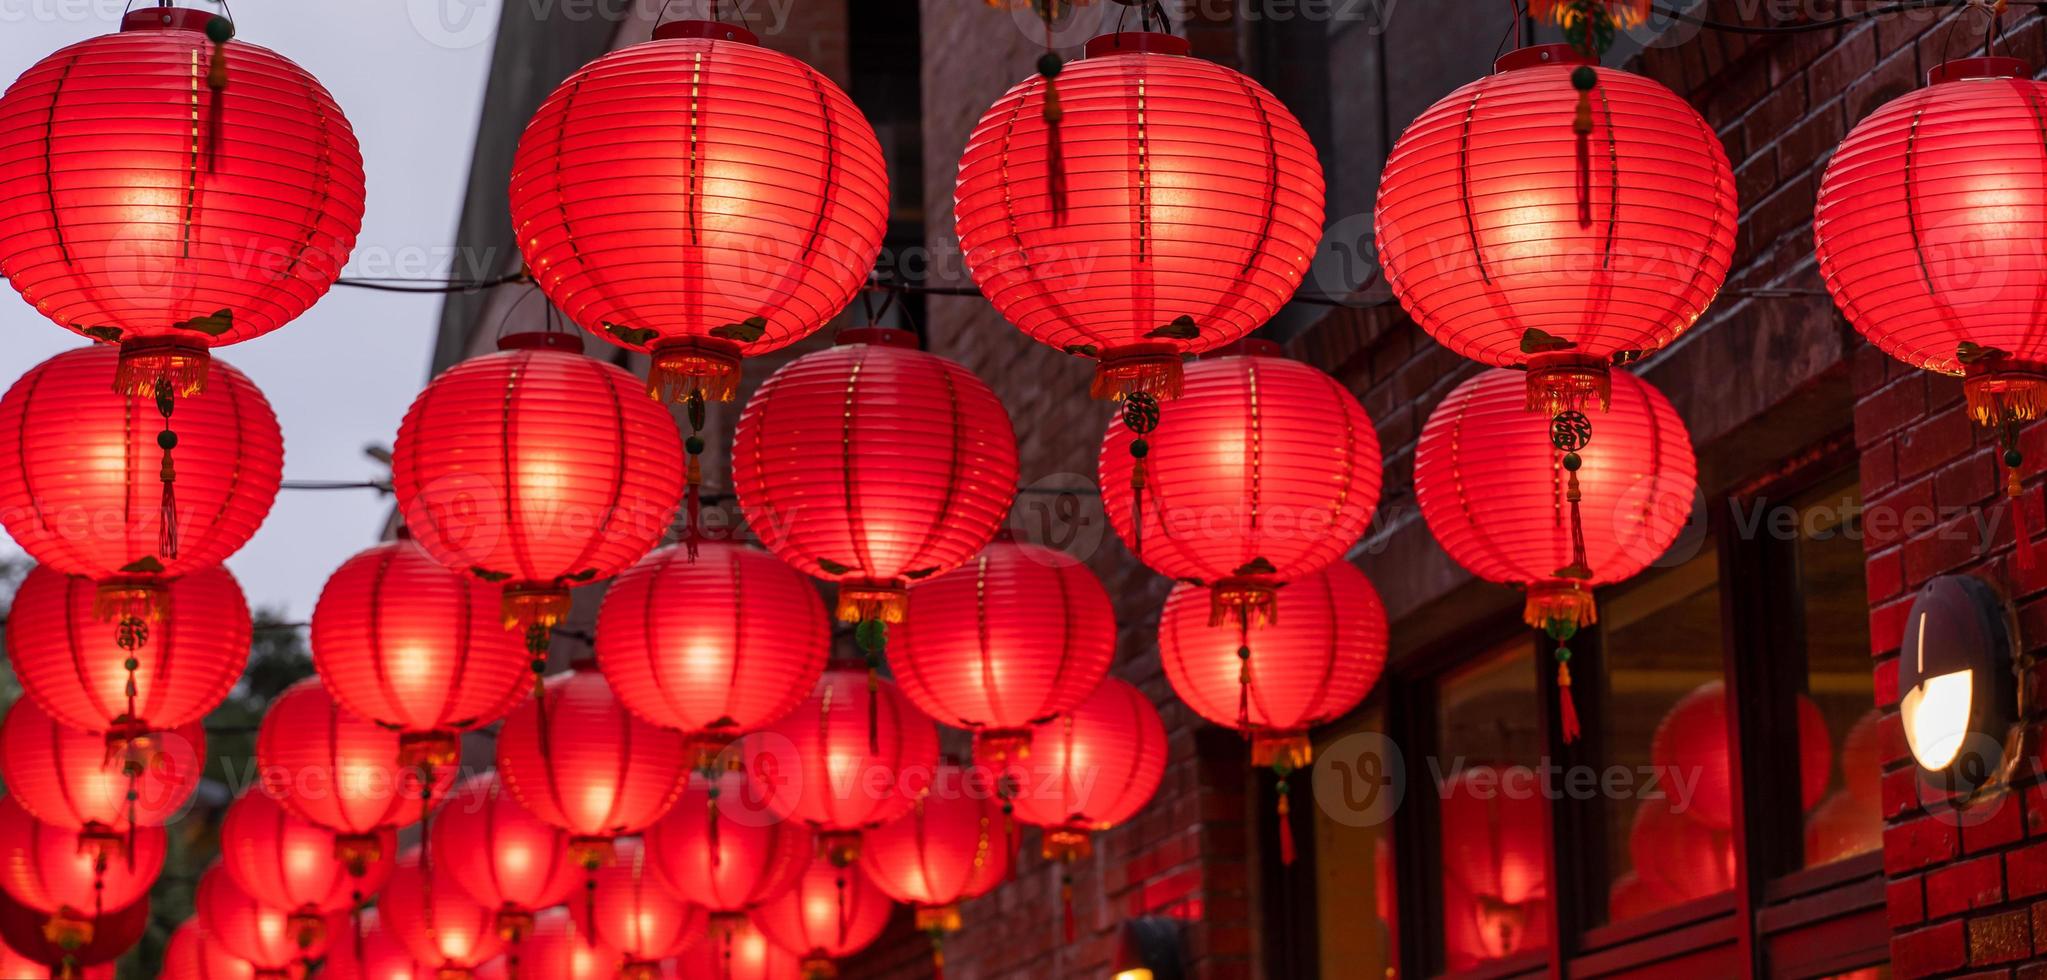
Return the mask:
POLYGON ((1451 968, 1543 945, 1550 818, 1533 771, 1468 765, 1443 790, 1443 927, 1451 968), (1525 777, 1525 792, 1513 782, 1525 777))

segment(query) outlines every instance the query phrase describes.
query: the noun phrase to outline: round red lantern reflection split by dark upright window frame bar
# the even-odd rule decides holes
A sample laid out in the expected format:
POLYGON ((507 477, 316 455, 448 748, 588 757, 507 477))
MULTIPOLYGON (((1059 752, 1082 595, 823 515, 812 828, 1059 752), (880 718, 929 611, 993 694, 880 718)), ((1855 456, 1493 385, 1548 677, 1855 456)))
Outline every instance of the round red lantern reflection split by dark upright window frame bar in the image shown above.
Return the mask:
MULTIPOLYGON (((1656 722, 1650 761, 1664 771, 1697 773, 1687 816, 1709 827, 1734 827, 1734 769, 1728 763, 1728 685, 1707 681, 1681 698, 1656 722)), ((1834 747, 1812 698, 1797 696, 1799 810, 1812 810, 1834 777, 1834 747)))

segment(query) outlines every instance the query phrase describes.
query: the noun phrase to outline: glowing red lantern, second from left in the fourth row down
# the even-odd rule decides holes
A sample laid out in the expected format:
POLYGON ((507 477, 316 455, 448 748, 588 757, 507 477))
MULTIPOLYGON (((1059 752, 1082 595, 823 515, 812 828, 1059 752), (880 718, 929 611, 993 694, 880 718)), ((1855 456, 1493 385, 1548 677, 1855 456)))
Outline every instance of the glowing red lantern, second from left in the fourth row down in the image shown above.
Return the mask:
POLYGON ((256 730, 262 788, 291 812, 336 833, 334 855, 371 863, 381 831, 420 820, 446 798, 454 767, 399 765, 397 732, 348 714, 319 677, 285 689, 256 730))

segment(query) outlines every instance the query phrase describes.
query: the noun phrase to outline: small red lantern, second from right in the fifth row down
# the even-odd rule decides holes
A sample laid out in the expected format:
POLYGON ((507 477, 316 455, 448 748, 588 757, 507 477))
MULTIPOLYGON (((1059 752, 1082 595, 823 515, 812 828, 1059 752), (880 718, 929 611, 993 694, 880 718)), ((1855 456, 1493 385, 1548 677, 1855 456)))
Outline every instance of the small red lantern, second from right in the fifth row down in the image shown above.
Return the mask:
POLYGON ((817 853, 811 831, 774 804, 772 788, 745 773, 692 773, 647 829, 647 861, 669 892, 712 915, 745 912, 794 886, 817 853))

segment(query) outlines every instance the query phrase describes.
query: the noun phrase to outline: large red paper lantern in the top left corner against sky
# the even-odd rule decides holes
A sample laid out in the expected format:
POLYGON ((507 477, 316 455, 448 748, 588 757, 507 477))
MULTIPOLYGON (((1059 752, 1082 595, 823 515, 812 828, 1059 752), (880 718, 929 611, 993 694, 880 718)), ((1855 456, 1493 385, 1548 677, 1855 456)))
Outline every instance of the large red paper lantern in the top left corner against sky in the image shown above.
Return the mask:
POLYGON ((57 325, 119 344, 137 395, 199 391, 209 348, 305 313, 362 227, 342 106, 270 49, 211 41, 221 29, 133 10, 0 96, 0 274, 57 325))

